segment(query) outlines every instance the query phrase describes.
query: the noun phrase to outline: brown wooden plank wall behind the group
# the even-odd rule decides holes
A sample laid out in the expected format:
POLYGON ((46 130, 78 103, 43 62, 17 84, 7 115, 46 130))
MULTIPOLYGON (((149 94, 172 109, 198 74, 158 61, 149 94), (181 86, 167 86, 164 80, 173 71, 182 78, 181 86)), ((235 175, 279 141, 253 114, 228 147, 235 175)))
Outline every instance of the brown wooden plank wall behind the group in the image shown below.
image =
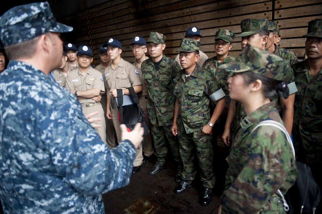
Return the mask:
MULTIPOLYGON (((322 18, 321 0, 110 0, 87 7, 84 10, 59 19, 59 22, 74 27, 66 34, 64 43, 91 45, 94 52, 93 64, 99 64, 99 46, 109 38, 116 38, 122 44, 122 57, 133 62, 129 44, 135 36, 146 40, 149 32, 157 31, 166 36, 164 53, 175 58, 179 42, 185 31, 196 26, 201 30, 201 50, 213 57, 214 34, 219 29, 229 29, 236 35, 241 33, 240 22, 246 18, 268 18, 275 21, 282 40, 280 47, 288 48, 302 57, 308 22, 322 18)), ((231 55, 241 51, 240 38, 233 41, 231 55)))

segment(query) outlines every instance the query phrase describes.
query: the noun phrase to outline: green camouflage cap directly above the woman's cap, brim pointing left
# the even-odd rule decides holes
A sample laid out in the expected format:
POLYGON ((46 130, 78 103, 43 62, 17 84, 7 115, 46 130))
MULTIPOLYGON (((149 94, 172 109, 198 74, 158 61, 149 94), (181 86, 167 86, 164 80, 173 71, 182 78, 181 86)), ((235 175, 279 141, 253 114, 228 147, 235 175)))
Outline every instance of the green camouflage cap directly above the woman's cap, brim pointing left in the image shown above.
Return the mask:
POLYGON ((266 19, 245 19, 241 22, 242 33, 237 37, 250 36, 258 33, 262 30, 267 30, 267 18, 266 19))

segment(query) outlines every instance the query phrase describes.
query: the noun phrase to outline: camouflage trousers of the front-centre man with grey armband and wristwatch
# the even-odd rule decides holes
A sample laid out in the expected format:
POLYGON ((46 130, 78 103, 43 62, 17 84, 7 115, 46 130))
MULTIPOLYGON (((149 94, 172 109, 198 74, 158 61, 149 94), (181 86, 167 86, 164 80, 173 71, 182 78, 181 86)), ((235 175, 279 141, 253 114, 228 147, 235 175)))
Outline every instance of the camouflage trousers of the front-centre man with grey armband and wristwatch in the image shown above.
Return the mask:
POLYGON ((215 185, 215 174, 213 172, 213 146, 211 134, 204 135, 202 127, 199 131, 187 134, 182 119, 178 118, 178 140, 179 152, 183 162, 184 171, 181 176, 186 181, 194 180, 196 168, 194 156, 196 154, 200 166, 200 177, 204 187, 212 189, 215 185))

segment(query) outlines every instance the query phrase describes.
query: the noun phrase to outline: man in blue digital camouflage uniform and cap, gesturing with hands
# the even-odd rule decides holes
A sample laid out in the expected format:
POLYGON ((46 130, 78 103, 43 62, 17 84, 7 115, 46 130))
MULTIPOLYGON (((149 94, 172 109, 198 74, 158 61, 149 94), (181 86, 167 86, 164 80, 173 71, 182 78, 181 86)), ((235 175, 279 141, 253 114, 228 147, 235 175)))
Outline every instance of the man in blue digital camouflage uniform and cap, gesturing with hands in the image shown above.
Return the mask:
POLYGON ((48 2, 0 17, 10 59, 0 77, 0 196, 5 213, 104 213, 101 194, 129 183, 143 130, 113 151, 68 90, 48 77, 62 63, 60 33, 48 2), (29 47, 29 48, 26 48, 29 47), (19 59, 19 60, 17 60, 19 59))

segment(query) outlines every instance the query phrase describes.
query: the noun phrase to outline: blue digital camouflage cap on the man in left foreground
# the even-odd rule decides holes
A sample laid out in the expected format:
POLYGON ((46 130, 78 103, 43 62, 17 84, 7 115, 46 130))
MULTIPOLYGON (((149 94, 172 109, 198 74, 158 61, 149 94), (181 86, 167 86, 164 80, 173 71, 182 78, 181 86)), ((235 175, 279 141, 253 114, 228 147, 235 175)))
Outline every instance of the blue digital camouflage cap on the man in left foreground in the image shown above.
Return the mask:
POLYGON ((4 46, 31 40, 47 32, 72 30, 72 27, 56 22, 48 2, 15 6, 0 17, 0 38, 4 46))

